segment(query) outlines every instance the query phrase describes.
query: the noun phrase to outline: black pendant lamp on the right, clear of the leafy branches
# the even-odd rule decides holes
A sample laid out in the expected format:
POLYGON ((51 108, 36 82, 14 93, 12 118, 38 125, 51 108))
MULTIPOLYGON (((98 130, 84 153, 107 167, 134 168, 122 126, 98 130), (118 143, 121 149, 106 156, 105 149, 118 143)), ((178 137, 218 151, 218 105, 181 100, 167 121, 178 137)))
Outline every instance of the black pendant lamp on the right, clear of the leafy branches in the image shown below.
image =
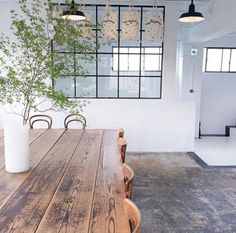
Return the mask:
POLYGON ((179 21, 184 22, 184 23, 195 23, 195 22, 200 22, 203 20, 204 20, 204 17, 202 13, 195 11, 195 5, 193 4, 193 0, 191 0, 191 4, 189 5, 188 12, 183 13, 179 17, 179 21))

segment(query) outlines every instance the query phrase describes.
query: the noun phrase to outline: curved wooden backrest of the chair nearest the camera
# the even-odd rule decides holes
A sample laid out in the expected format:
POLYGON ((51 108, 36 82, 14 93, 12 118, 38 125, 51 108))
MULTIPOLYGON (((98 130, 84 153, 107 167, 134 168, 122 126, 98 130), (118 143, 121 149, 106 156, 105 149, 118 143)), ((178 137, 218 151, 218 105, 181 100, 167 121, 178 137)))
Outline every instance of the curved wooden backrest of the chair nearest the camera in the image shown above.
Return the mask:
POLYGON ((141 233, 141 213, 130 199, 125 199, 125 210, 129 217, 131 233, 141 233))

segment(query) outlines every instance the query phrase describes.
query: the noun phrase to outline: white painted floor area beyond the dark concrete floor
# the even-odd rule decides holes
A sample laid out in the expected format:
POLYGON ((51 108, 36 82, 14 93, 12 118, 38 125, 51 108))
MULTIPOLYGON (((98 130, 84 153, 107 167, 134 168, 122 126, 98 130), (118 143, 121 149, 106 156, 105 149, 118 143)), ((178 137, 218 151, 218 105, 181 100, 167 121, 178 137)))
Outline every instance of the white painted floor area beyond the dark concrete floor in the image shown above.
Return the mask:
POLYGON ((235 137, 196 139, 194 152, 210 166, 236 166, 235 137))

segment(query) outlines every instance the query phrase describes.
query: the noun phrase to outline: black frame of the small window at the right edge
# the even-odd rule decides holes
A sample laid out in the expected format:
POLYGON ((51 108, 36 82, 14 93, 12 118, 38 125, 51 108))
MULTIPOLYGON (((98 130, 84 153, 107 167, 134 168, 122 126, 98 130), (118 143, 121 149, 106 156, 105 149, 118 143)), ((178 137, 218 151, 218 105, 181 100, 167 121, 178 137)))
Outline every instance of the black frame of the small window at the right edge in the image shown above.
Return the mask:
POLYGON ((231 71, 231 59, 232 59, 232 50, 236 51, 236 47, 205 47, 204 48, 204 61, 203 61, 203 72, 204 73, 236 73, 236 71, 231 71), (207 63, 208 63, 208 50, 210 49, 219 49, 221 50, 221 66, 220 66, 220 70, 219 71, 209 71, 207 70, 207 63), (230 50, 230 57, 229 57, 229 65, 228 65, 228 71, 223 71, 222 70, 222 65, 223 65, 223 54, 224 54, 224 50, 230 50))

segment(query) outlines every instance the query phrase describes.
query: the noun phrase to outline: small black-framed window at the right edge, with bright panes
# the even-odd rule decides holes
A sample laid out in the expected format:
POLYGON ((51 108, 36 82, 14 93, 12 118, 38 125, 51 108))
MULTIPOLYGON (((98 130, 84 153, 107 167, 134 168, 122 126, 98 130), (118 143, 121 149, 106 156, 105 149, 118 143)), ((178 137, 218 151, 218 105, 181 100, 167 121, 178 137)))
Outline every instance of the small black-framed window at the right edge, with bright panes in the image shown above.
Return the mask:
POLYGON ((235 73, 236 48, 205 48, 204 72, 235 73))

